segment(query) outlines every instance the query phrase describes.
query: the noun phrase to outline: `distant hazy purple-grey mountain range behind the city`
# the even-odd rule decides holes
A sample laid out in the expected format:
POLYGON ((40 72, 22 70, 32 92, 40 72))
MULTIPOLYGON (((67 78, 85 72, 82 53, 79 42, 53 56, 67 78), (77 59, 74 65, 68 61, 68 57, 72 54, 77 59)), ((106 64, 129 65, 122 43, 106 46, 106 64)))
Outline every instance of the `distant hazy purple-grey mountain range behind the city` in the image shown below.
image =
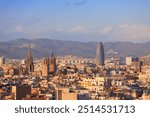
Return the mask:
MULTIPOLYGON (((36 58, 50 56, 52 52, 59 55, 75 55, 78 57, 95 58, 96 42, 62 41, 51 39, 16 39, 0 42, 0 56, 8 58, 26 58, 28 45, 31 45, 32 55, 36 58)), ((113 51, 120 57, 129 55, 144 56, 150 54, 150 42, 105 42, 105 53, 113 51)))

